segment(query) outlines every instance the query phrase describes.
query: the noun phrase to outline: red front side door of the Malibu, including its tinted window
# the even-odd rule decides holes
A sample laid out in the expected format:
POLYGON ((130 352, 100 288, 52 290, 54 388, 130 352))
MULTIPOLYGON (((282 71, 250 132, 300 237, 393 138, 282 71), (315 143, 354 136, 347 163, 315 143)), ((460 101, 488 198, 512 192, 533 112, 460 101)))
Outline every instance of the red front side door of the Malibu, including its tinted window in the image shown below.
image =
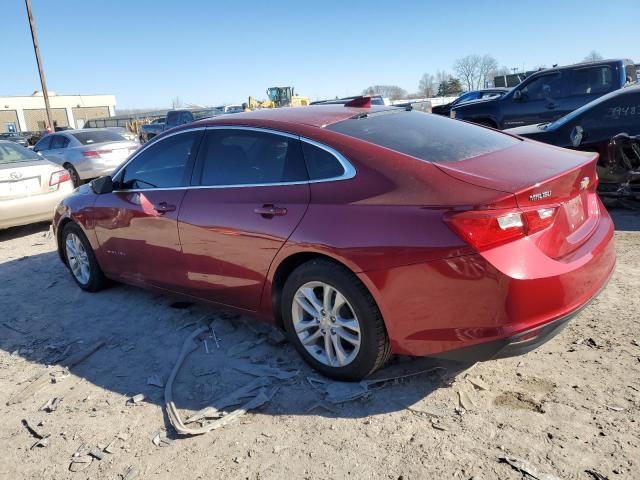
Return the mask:
POLYGON ((178 213, 202 130, 150 144, 95 203, 95 230, 105 273, 127 282, 177 289, 184 283, 178 213))

